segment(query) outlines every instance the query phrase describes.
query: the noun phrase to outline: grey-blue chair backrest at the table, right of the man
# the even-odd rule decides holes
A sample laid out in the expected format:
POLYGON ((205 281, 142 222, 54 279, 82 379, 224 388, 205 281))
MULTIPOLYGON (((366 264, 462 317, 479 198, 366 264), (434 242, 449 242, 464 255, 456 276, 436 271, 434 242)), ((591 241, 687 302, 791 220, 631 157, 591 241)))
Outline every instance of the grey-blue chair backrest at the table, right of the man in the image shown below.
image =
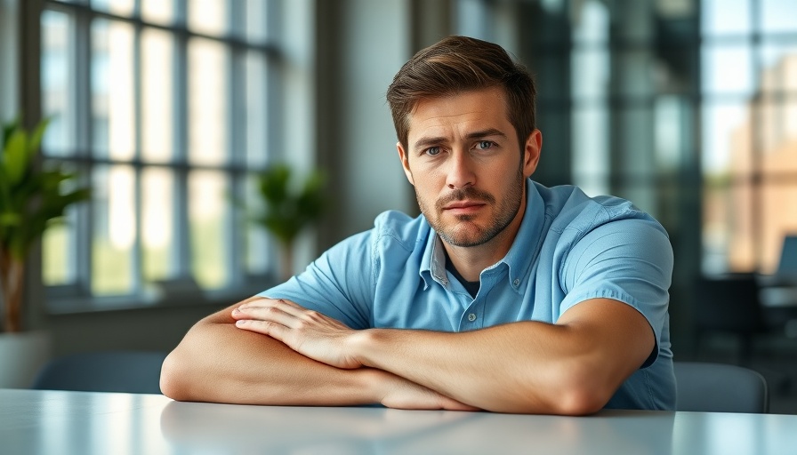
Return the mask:
POLYGON ((678 411, 769 411, 767 380, 757 371, 737 365, 675 362, 678 411))

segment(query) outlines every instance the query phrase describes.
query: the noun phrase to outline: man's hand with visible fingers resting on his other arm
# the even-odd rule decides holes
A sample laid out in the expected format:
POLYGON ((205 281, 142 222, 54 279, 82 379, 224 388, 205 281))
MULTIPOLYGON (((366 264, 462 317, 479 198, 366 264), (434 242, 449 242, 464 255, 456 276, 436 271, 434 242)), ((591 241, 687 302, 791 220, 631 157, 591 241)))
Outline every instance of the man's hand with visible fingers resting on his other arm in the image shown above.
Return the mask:
POLYGON ((278 339, 291 349, 337 368, 359 368, 348 352, 356 333, 345 324, 285 299, 256 299, 232 311, 236 326, 278 339))

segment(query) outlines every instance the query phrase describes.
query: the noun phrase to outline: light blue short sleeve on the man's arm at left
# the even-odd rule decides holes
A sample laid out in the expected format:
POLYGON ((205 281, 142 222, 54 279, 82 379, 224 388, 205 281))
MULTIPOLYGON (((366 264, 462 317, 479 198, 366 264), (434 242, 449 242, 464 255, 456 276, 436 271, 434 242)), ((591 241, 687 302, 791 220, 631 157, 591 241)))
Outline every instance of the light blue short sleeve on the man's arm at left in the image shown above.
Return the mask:
POLYGON ((365 329, 371 320, 374 289, 373 240, 373 230, 352 235, 324 252, 302 274, 258 295, 292 300, 352 329, 365 329))

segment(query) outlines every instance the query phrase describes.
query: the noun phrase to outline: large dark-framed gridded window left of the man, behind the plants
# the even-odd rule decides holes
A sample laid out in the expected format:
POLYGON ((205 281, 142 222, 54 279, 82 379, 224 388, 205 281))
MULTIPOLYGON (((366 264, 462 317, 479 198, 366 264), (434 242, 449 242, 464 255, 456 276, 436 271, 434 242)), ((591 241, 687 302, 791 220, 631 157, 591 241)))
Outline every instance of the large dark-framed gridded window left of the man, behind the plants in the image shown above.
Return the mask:
POLYGON ((270 274, 266 235, 233 201, 253 202, 274 154, 272 4, 44 2, 43 153, 93 188, 44 237, 53 311, 243 292, 270 274))

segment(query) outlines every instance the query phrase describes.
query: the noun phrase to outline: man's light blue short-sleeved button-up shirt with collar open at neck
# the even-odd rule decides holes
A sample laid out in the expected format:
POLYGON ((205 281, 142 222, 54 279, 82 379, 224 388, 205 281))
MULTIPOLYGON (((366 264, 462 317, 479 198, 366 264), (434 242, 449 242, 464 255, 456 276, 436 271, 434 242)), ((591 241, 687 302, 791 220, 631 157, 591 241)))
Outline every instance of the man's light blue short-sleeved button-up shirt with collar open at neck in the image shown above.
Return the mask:
POLYGON ((576 187, 528 180, 527 194, 518 235, 506 256, 481 272, 475 299, 447 272, 441 240, 423 215, 400 212, 382 213, 373 229, 260 295, 293 300, 353 329, 431 331, 556 323, 581 301, 616 299, 648 319, 656 349, 606 407, 674 409, 672 247, 664 228, 624 199, 591 198, 576 187))

